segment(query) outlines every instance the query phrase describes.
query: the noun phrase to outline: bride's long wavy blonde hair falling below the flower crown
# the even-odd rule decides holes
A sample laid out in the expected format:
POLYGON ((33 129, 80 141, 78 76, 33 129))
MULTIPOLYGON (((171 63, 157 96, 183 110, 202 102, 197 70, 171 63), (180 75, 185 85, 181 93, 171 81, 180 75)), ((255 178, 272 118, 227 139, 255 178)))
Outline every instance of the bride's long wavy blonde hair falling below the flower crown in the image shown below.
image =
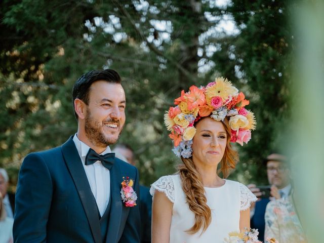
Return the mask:
MULTIPOLYGON (((221 122, 226 130, 227 143, 217 174, 221 173, 223 178, 227 178, 230 171, 235 168, 238 161, 238 154, 230 144, 231 129, 228 124, 227 117, 221 122)), ((201 233, 203 233, 206 231, 212 220, 211 209, 207 205, 204 185, 202 183, 200 174, 193 164, 192 157, 181 157, 181 160, 183 165, 179 165, 178 170, 182 181, 182 188, 186 195, 189 209, 195 215, 195 223, 190 229, 187 230, 187 232, 194 234, 202 229, 203 231, 201 231, 201 233)))

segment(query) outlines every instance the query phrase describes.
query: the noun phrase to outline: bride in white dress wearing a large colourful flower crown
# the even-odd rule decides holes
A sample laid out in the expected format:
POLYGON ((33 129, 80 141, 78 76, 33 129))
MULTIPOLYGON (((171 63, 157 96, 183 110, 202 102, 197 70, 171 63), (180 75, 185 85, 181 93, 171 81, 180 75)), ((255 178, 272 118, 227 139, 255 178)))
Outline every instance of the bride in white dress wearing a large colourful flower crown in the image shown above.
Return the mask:
POLYGON ((229 232, 250 228, 250 204, 257 198, 245 185, 226 179, 238 161, 231 143, 248 143, 256 127, 248 104, 220 77, 182 91, 166 112, 173 152, 182 164, 150 188, 152 243, 222 243, 229 232))

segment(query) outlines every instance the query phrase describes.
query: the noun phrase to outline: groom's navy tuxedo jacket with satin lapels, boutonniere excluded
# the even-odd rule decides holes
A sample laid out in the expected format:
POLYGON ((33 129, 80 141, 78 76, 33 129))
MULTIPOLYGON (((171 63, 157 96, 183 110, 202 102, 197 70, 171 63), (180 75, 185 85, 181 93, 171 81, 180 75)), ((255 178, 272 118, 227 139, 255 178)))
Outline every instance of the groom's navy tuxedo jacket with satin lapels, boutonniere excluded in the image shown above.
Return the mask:
MULTIPOLYGON (((15 242, 103 242, 96 200, 72 138, 24 159, 16 192, 15 242)), ((139 200, 138 206, 125 207, 120 197, 123 176, 134 179, 139 196, 137 169, 115 158, 110 170, 109 243, 140 242, 139 200)))

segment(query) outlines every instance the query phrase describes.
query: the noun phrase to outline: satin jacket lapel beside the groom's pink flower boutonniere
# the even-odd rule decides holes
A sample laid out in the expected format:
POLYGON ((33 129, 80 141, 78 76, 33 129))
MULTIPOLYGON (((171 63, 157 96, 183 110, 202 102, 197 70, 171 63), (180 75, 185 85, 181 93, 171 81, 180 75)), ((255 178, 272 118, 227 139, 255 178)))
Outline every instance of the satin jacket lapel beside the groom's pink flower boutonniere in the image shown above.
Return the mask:
POLYGON ((111 206, 110 217, 108 224, 108 232, 106 242, 117 242, 117 236, 119 234, 119 226, 121 221, 121 213, 123 212, 123 202, 121 201, 120 189, 121 189, 121 177, 120 167, 117 161, 115 161, 113 167, 110 170, 110 188, 111 188, 111 206))

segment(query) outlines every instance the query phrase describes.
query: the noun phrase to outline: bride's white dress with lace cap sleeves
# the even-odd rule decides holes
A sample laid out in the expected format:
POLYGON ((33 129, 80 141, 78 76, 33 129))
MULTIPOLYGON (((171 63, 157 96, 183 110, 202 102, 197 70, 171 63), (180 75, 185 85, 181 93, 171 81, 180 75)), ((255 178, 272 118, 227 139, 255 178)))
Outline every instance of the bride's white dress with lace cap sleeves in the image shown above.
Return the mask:
POLYGON ((240 211, 247 210, 257 200, 249 188, 236 181, 225 180, 221 187, 204 188, 207 205, 212 211, 212 222, 200 235, 201 232, 186 232, 194 224, 194 214, 186 203, 180 175, 163 176, 152 184, 152 196, 158 190, 164 192, 173 203, 170 243, 223 243, 229 232, 239 230, 240 211))

